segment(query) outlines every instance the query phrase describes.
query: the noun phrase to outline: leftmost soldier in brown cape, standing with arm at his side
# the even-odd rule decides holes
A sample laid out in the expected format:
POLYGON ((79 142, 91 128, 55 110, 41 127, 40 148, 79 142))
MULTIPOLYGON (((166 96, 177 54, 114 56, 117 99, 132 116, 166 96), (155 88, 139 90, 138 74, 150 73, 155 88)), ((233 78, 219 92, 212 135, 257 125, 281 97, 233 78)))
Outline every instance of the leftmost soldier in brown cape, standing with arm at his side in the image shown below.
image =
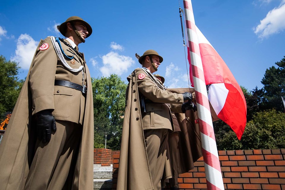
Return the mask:
POLYGON ((93 189, 91 77, 77 45, 92 33, 80 17, 66 38, 39 42, 0 144, 1 189, 93 189))

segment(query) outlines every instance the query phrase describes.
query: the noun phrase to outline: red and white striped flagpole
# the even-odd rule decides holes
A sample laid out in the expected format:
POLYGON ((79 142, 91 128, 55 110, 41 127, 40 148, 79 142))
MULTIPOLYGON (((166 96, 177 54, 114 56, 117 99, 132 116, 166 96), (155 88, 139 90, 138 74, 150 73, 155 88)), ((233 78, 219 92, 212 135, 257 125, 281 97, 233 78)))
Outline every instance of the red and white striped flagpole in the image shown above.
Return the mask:
POLYGON ((183 4, 189 40, 189 53, 194 79, 207 189, 224 190, 192 3, 191 0, 184 0, 183 4))

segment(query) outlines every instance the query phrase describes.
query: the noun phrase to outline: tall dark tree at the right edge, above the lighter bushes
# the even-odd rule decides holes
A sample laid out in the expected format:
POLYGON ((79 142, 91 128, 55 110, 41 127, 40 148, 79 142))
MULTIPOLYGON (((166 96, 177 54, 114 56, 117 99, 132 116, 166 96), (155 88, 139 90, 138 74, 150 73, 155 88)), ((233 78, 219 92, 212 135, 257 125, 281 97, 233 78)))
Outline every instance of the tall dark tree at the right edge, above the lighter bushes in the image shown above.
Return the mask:
POLYGON ((264 85, 259 92, 261 110, 276 109, 284 111, 281 96, 285 96, 285 56, 275 66, 266 69, 261 83, 264 85))

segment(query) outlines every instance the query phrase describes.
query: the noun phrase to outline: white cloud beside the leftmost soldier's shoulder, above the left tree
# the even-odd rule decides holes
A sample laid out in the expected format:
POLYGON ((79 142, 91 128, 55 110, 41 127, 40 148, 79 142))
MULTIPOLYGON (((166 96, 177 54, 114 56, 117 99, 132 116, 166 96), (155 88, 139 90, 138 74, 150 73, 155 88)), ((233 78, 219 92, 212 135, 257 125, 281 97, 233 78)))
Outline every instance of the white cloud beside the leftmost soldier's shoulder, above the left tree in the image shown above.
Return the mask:
POLYGON ((11 60, 19 62, 22 69, 29 69, 38 43, 28 34, 21 34, 17 40, 15 56, 11 60))

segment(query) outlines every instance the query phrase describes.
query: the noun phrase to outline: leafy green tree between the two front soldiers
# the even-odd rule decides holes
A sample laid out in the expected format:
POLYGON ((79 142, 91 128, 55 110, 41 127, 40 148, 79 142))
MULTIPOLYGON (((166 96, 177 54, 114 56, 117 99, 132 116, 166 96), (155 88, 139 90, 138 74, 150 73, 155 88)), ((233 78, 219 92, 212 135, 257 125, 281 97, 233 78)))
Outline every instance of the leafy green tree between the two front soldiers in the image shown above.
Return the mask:
MULTIPOLYGON (((107 148, 120 150, 122 126, 125 110, 126 84, 118 75, 92 78, 94 101, 94 145, 104 145, 107 135, 107 148)), ((95 147, 99 148, 99 147, 95 147)), ((102 148, 102 147, 101 147, 102 148)))

